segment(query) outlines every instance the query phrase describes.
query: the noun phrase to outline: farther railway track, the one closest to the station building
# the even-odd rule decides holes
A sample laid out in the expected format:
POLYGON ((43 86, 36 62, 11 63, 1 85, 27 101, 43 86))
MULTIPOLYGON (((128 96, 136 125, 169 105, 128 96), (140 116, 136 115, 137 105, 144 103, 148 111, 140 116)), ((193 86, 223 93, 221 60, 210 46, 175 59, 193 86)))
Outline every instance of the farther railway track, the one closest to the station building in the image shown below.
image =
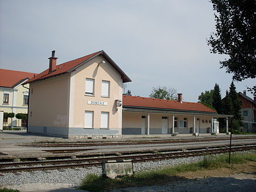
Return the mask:
MULTIPOLYGON (((256 137, 233 137, 232 140, 256 139, 256 137)), ((108 143, 43 143, 43 144, 18 144, 20 147, 92 147, 103 145, 142 145, 142 144, 168 144, 168 143, 189 143, 198 141, 222 141, 229 138, 218 139, 190 139, 190 140, 166 140, 166 141, 129 141, 129 142, 108 142, 108 143)))

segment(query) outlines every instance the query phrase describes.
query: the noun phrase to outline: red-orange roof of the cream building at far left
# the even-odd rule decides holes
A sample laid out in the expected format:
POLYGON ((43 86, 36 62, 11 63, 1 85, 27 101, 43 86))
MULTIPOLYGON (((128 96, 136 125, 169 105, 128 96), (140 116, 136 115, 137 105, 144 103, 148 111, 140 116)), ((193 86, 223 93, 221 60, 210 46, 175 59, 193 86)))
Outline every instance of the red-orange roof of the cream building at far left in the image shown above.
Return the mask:
POLYGON ((26 79, 34 77, 36 73, 19 72, 17 70, 0 69, 0 87, 13 88, 26 79))

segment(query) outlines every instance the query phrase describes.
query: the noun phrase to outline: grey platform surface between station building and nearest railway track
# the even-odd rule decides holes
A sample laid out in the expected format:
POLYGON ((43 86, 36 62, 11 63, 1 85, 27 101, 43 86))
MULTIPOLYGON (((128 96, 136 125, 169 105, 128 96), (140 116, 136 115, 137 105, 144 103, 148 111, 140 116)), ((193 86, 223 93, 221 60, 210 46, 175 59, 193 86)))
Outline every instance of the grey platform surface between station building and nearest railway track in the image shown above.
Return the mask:
MULTIPOLYGON (((233 135, 233 137, 255 137, 256 135, 233 135)), ((171 135, 125 135, 123 139, 63 139, 60 137, 49 137, 44 135, 37 135, 26 133, 23 131, 4 131, 0 133, 0 160, 15 160, 20 158, 38 158, 38 157, 72 157, 72 156, 87 156, 87 155, 108 155, 115 153, 127 153, 127 152, 149 152, 149 151, 158 151, 158 150, 176 150, 176 149, 190 149, 193 147, 214 147, 218 145, 229 145, 229 135, 225 133, 220 133, 220 135, 213 136, 210 134, 200 134, 200 136, 192 136, 192 134, 184 134, 179 136, 171 135), (92 147, 75 147, 76 149, 86 149, 84 151, 74 152, 74 153, 51 153, 44 151, 45 149, 70 149, 71 147, 61 147, 61 148, 39 148, 39 147, 21 147, 17 144, 21 143, 59 143, 59 142, 76 142, 76 141, 142 141, 142 140, 185 140, 185 139, 214 139, 214 138, 226 138, 225 141, 201 141, 198 143, 173 143, 173 144, 140 144, 140 145, 113 145, 113 146, 92 146, 92 147), (89 149, 89 150, 88 150, 89 149)), ((233 144, 248 144, 256 143, 256 139, 246 139, 246 140, 233 140, 233 144)))

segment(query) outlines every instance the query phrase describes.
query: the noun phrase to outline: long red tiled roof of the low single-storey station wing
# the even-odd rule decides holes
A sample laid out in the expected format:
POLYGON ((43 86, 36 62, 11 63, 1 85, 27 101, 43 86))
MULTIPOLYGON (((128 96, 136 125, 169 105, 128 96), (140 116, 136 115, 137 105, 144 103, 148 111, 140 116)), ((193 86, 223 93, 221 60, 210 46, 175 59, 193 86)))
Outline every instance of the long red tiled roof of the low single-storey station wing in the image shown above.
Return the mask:
POLYGON ((185 110, 185 111, 200 111, 200 112, 215 112, 211 108, 202 103, 182 102, 165 99, 155 99, 147 97, 135 97, 123 95, 123 107, 148 107, 148 108, 163 108, 167 110, 185 110))

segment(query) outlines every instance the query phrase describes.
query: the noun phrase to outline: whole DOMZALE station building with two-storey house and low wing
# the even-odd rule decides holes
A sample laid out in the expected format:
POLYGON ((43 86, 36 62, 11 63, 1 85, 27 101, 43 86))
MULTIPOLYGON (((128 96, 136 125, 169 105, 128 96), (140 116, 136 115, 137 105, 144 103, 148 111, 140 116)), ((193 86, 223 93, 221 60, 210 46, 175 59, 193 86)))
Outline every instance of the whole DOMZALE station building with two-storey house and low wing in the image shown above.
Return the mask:
MULTIPOLYGON (((49 68, 30 85, 28 132, 68 138, 114 138, 218 132, 217 118, 228 119, 201 103, 122 95, 130 78, 99 51, 49 68)), ((228 120, 226 120, 228 126, 228 120)), ((226 130, 228 132, 228 129, 226 130)))

